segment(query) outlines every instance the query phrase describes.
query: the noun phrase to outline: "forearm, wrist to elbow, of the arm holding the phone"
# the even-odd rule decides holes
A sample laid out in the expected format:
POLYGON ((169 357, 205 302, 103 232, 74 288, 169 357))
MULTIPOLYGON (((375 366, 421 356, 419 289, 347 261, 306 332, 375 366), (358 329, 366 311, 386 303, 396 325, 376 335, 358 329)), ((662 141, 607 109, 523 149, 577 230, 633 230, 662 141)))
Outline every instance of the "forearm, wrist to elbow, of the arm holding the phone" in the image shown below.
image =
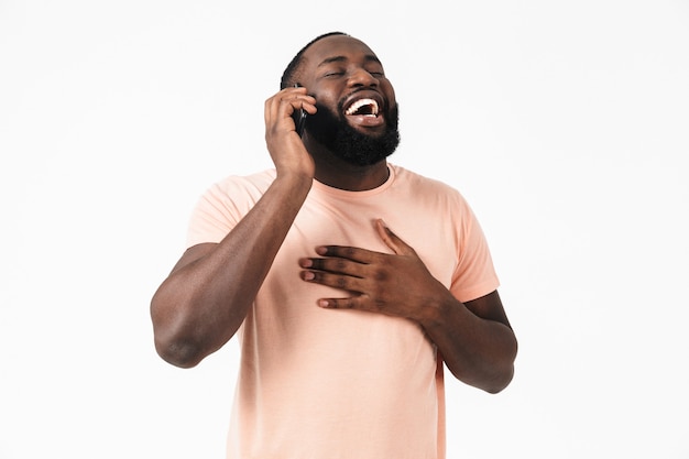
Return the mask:
POLYGON ((151 303, 156 349, 194 367, 242 324, 308 190, 308 177, 278 177, 218 244, 183 259, 151 303))

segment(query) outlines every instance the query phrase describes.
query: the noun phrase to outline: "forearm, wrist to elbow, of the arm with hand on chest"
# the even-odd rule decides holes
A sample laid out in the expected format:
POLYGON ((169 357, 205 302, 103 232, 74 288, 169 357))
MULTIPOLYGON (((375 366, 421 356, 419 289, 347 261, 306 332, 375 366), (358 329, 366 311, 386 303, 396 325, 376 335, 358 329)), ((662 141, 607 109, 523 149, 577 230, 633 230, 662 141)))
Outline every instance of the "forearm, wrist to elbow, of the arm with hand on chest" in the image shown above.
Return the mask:
POLYGON ((477 316, 451 295, 431 309, 434 314, 422 326, 452 374, 489 393, 506 387, 517 352, 512 329, 502 321, 477 316))

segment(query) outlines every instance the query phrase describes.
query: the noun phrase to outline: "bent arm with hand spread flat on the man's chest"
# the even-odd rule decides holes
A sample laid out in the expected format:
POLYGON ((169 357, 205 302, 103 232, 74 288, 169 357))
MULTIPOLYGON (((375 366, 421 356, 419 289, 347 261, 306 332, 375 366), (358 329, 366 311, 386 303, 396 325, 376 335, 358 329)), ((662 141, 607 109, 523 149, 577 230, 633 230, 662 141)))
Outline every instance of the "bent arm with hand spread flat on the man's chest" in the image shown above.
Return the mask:
POLYGON ((517 342, 497 292, 459 302, 430 275, 414 249, 381 221, 378 231, 394 254, 327 245, 317 248, 324 258, 300 260, 304 281, 353 295, 322 298, 318 304, 414 320, 457 379, 490 393, 506 387, 514 373, 517 342))

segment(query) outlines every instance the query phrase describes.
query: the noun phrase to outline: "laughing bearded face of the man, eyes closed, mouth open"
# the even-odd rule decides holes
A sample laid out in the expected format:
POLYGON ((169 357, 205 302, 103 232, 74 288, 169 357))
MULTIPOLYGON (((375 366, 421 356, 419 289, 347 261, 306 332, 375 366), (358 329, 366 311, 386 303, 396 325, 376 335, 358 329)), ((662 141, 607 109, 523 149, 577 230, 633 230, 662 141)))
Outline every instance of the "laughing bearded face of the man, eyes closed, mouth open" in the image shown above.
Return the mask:
POLYGON ((299 81, 317 100, 306 131, 342 160, 374 164, 400 143, 397 102, 383 66, 359 40, 330 36, 304 53, 299 81))

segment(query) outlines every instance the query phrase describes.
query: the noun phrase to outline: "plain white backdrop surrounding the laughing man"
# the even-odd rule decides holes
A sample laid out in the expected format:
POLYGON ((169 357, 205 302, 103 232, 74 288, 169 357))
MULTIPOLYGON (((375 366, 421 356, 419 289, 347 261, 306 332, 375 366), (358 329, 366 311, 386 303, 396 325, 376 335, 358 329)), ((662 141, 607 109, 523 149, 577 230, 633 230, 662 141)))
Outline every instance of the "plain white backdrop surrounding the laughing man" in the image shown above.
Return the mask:
POLYGON ((149 302, 333 30, 395 85, 391 161, 474 208, 520 339, 503 393, 448 378, 448 458, 688 458, 679 0, 0 0, 0 458, 223 457, 237 342, 173 368, 149 302))

